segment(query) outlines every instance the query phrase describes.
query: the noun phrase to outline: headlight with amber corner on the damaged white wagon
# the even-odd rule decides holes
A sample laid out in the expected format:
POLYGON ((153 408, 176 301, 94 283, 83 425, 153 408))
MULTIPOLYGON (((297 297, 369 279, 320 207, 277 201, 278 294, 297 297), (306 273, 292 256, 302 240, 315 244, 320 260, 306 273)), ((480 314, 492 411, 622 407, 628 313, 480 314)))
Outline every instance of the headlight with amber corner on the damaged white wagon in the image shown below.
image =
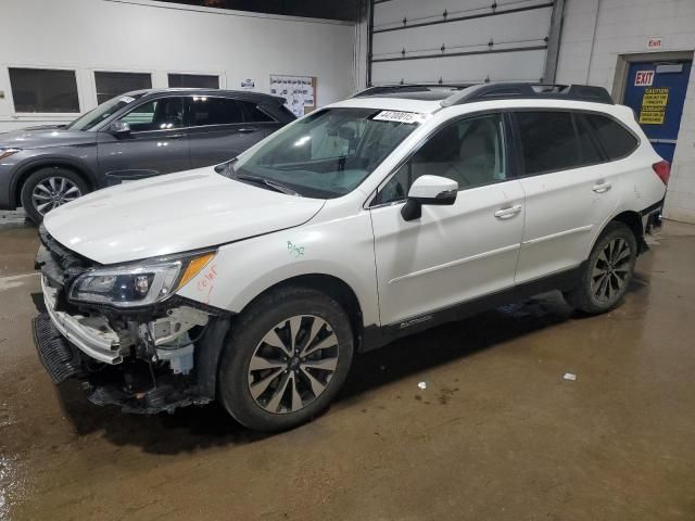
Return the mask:
POLYGON ((80 275, 68 298, 89 304, 138 307, 163 301, 195 277, 215 256, 207 252, 161 262, 142 262, 80 275))

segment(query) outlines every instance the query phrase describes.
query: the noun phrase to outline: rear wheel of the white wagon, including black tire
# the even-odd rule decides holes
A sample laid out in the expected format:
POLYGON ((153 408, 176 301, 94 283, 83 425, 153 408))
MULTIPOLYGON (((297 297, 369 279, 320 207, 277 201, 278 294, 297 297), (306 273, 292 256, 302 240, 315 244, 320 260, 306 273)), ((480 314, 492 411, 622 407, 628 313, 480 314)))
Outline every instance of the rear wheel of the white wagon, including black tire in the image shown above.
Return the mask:
POLYGON ((594 244, 577 288, 565 293, 576 309, 597 315, 614 309, 634 275, 637 241, 622 223, 609 223, 594 244))

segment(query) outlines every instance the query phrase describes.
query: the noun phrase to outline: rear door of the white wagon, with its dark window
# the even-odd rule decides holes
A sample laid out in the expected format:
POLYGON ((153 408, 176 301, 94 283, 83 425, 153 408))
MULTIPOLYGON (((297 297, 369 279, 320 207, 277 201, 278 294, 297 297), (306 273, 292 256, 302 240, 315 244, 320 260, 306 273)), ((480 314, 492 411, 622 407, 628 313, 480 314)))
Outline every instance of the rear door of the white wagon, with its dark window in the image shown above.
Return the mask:
POLYGON ((621 176, 606 161, 583 115, 530 110, 514 116, 526 194, 516 282, 523 283, 585 259, 596 233, 618 206, 621 176))

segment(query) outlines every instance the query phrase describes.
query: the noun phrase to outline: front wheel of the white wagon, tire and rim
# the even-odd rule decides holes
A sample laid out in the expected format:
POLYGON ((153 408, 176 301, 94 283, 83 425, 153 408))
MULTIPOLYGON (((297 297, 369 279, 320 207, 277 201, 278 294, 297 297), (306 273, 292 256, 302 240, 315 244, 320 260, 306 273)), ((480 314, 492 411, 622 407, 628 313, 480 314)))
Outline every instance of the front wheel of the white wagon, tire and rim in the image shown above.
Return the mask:
POLYGON ((258 431, 291 429, 323 412, 348 377, 354 343, 343 308, 306 288, 261 297, 238 317, 226 342, 219 399, 237 421, 258 431))

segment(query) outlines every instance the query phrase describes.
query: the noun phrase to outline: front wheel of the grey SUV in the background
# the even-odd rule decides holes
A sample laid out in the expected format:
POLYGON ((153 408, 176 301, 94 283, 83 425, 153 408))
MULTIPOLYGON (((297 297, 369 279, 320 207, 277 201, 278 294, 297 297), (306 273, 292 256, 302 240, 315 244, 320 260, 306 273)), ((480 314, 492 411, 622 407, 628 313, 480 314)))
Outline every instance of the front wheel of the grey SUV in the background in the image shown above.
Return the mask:
POLYGON ((22 186, 22 207, 37 225, 53 208, 89 192, 89 186, 73 170, 60 166, 40 168, 22 186))

